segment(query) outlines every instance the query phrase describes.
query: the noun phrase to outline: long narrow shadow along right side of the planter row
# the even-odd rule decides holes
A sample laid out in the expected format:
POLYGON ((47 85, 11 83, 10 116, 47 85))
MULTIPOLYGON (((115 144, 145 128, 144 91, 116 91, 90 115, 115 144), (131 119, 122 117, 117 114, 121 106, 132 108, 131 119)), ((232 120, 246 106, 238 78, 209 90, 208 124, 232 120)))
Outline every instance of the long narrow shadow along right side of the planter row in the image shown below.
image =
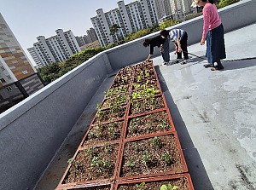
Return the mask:
POLYGON ((192 178, 195 190, 213 190, 212 183, 207 176, 207 171, 201 161, 201 157, 190 138, 187 127, 177 109, 177 105, 172 99, 172 95, 167 88, 166 81, 160 72, 159 66, 155 66, 155 70, 160 80, 161 89, 166 96, 166 102, 172 114, 173 123, 183 148, 183 154, 188 164, 189 174, 192 178))

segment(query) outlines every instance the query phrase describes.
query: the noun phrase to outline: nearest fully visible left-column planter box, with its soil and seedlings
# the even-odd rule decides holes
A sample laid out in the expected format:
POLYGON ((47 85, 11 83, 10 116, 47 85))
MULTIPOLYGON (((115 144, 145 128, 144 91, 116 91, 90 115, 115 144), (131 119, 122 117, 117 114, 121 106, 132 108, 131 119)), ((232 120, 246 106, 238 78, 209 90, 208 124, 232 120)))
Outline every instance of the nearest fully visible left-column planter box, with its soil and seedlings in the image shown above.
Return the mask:
POLYGON ((117 173, 120 148, 120 143, 79 148, 68 164, 58 189, 110 184, 117 173))

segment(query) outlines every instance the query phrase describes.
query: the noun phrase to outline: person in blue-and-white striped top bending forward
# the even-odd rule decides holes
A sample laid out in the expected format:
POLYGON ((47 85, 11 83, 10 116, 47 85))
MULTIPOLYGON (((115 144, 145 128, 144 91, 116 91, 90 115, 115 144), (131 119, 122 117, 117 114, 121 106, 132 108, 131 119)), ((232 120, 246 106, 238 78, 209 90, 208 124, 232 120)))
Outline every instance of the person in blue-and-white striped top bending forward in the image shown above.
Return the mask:
POLYGON ((173 29, 172 31, 162 30, 160 35, 163 38, 169 38, 172 40, 177 53, 177 62, 182 59, 183 53, 184 60, 181 64, 186 64, 189 60, 187 32, 182 29, 173 29))

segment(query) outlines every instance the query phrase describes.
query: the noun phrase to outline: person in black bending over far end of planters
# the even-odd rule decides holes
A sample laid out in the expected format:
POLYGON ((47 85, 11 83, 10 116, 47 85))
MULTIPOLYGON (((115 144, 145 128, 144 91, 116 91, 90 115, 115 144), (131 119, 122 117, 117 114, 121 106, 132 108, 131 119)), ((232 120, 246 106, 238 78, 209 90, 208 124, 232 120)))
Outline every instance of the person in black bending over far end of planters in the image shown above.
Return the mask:
POLYGON ((144 47, 150 46, 150 52, 149 52, 149 55, 148 55, 148 58, 146 59, 146 61, 150 60, 151 56, 154 54, 154 47, 157 46, 158 48, 160 48, 160 53, 164 60, 164 65, 169 63, 170 54, 169 54, 169 41, 168 40, 166 40, 160 36, 153 37, 153 38, 147 38, 144 40, 143 46, 144 47))

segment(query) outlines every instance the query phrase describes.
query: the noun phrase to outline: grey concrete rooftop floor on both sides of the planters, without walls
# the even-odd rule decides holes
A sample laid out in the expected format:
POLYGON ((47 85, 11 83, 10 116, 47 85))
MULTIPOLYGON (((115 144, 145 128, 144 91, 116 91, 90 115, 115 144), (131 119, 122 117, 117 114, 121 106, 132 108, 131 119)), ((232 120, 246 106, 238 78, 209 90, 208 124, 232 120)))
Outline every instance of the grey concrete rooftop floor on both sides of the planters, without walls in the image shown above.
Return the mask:
MULTIPOLYGON (((247 31, 256 24, 225 35, 227 60, 256 55, 256 36, 247 31)), ((198 43, 189 52, 203 56, 205 49, 198 43)), ((224 62, 224 71, 211 72, 206 60, 191 58, 162 66, 157 57, 154 65, 195 189, 256 189, 256 60, 224 62)), ((112 81, 102 83, 36 189, 56 187, 112 81)))

